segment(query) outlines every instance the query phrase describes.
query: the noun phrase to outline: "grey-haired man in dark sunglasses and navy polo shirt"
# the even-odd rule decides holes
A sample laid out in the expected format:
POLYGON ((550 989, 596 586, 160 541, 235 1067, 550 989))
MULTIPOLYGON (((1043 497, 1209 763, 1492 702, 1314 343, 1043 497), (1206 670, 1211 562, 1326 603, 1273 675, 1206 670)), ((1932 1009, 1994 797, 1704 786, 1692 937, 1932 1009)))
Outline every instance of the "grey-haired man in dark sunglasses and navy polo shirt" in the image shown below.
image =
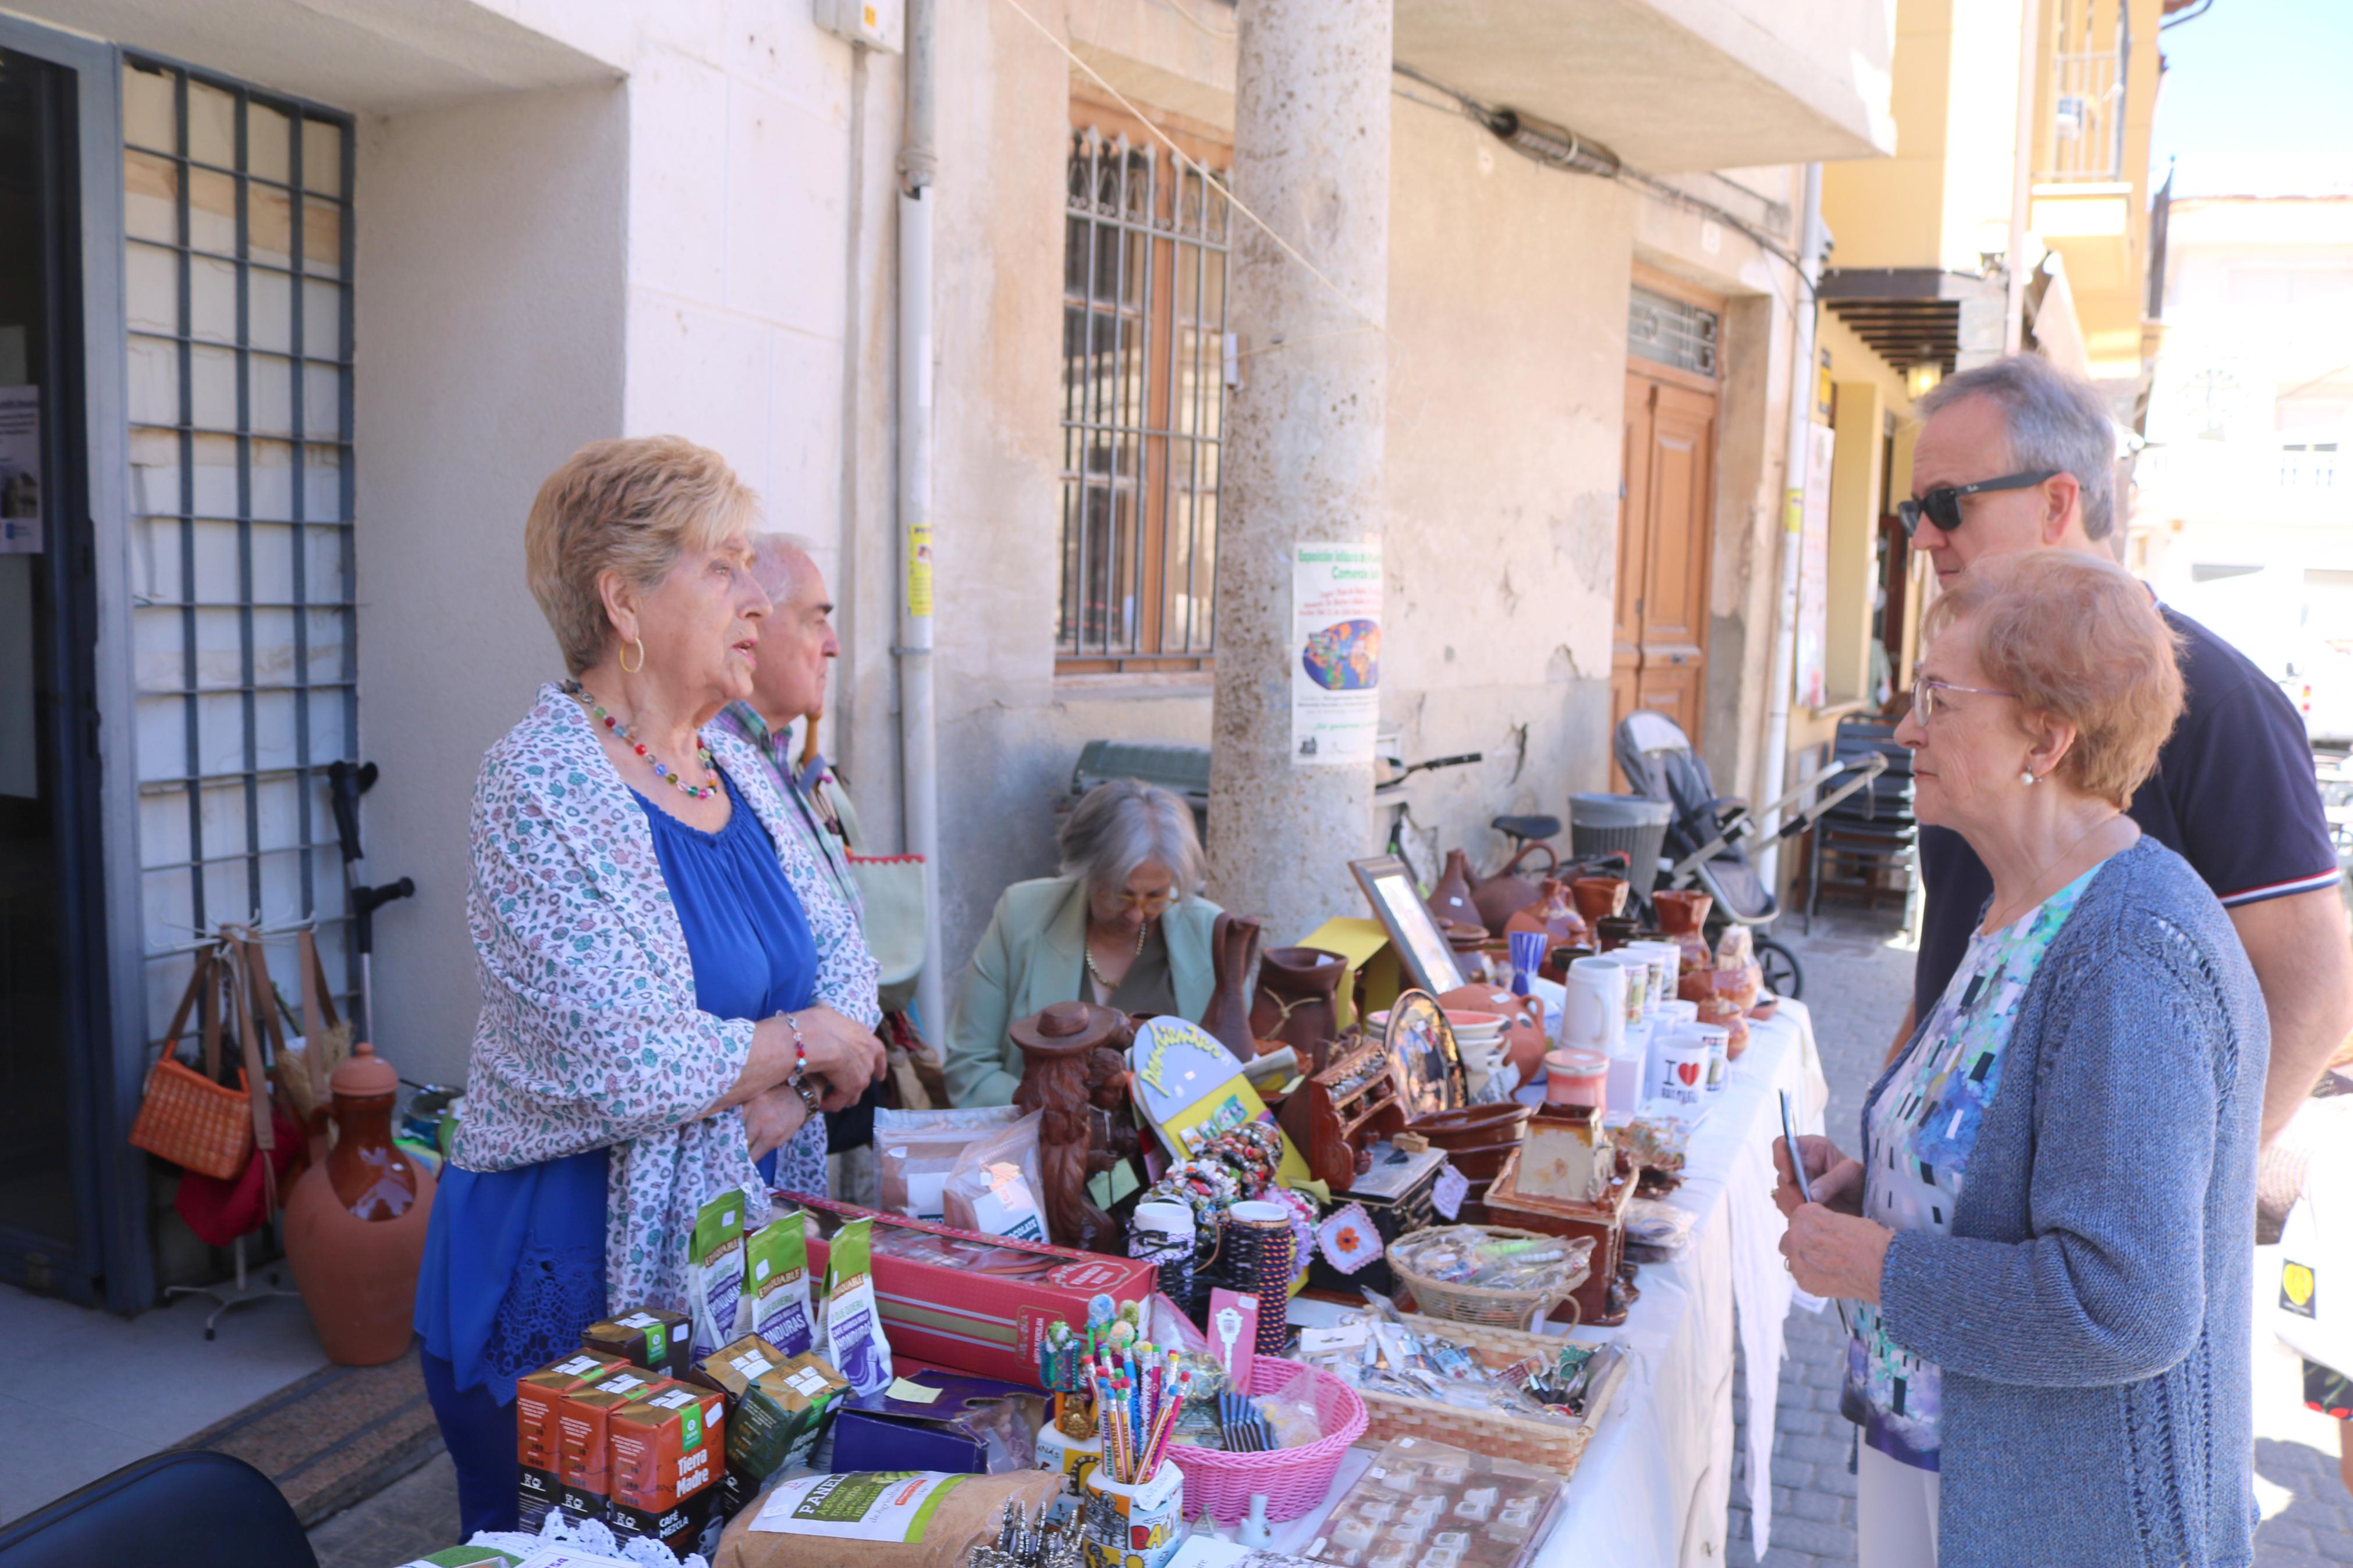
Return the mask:
MULTIPOLYGON (((1918 414, 1913 494, 1897 515, 1939 583, 2012 550, 2115 557, 2115 425, 2089 383, 2040 355, 2014 355, 1948 376, 1918 414)), ((2337 851, 2304 722, 2278 684, 2207 628, 2160 609, 2181 639, 2188 708, 2158 771, 2132 797, 2132 818, 2214 889, 2264 985, 2268 1145, 2353 1032, 2337 851)), ((1894 1051, 1944 994, 1993 891, 1960 835, 1941 827, 1920 830, 1920 875, 1927 903, 1913 1011, 1894 1051)), ((2292 1180, 2278 1194, 2266 1187, 2273 1222, 2292 1197, 2292 1180)))

